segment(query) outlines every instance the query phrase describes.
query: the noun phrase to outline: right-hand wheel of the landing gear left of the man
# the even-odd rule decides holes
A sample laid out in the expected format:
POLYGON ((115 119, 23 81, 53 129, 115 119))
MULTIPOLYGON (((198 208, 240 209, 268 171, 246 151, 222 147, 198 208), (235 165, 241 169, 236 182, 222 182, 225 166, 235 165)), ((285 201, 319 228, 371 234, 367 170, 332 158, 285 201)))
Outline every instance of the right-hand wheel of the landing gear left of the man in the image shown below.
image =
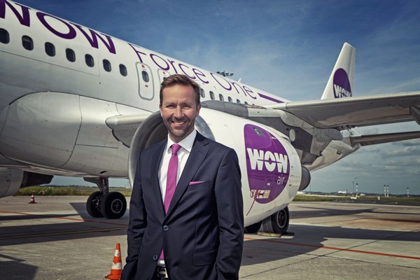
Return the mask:
POLYGON ((125 214, 127 200, 122 193, 111 192, 102 197, 101 212, 105 218, 117 219, 125 214))

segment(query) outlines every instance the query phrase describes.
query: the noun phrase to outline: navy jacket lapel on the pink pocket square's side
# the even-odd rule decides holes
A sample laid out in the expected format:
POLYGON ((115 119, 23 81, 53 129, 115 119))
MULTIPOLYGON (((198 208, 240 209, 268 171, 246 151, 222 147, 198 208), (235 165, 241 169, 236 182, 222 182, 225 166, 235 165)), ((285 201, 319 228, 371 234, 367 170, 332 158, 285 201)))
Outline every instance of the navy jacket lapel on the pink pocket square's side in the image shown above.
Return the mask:
POLYGON ((172 197, 171 204, 169 204, 167 216, 171 214, 175 205, 179 202, 183 193, 185 193, 186 189, 188 188, 188 184, 193 179, 195 173, 197 172, 197 169, 202 164, 204 158, 206 158, 206 155, 209 152, 207 144, 207 139, 203 137, 202 134, 197 132, 193 148, 191 149, 191 153, 188 156, 186 166, 184 167, 181 177, 179 178, 178 184, 176 185, 175 193, 172 197))

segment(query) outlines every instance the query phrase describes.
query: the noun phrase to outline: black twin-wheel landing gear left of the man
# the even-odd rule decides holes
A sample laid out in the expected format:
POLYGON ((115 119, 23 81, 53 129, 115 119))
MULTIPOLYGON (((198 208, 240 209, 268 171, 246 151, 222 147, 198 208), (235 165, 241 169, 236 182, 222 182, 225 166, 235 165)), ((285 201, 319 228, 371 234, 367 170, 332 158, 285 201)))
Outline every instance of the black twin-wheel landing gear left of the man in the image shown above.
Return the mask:
POLYGON ((109 191, 109 179, 104 177, 84 178, 95 183, 99 190, 87 198, 87 213, 94 218, 121 218, 127 209, 127 200, 122 193, 109 191))

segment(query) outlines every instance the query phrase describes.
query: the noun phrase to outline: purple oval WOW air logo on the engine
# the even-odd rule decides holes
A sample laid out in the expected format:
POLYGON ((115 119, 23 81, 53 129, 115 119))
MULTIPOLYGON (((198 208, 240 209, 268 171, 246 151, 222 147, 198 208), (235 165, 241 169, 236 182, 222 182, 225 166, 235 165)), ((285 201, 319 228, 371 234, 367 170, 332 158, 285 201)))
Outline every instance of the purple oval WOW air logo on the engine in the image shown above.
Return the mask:
POLYGON ((289 179, 286 149, 273 134, 256 125, 245 125, 246 171, 251 197, 265 204, 278 197, 289 179))

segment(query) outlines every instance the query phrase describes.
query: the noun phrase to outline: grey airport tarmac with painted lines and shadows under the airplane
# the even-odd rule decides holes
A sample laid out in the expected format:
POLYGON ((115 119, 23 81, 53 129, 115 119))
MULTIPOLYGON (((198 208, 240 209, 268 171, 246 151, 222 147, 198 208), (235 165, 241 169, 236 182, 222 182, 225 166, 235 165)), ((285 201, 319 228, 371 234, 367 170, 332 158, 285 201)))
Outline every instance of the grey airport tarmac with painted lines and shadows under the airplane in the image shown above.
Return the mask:
MULTIPOLYGON (((128 214, 91 218, 87 197, 0 199, 0 279, 104 279, 128 214)), ((290 235, 245 235, 240 279, 420 279, 420 207, 293 202, 290 235)))

